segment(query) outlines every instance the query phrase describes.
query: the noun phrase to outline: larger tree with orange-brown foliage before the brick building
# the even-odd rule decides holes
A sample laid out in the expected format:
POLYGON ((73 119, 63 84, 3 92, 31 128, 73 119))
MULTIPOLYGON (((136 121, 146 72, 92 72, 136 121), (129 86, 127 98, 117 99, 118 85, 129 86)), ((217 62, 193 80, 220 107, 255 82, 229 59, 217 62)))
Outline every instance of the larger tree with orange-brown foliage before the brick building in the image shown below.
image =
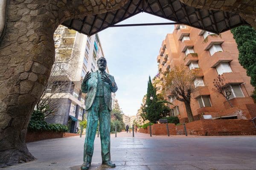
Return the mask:
POLYGON ((193 80, 198 74, 196 69, 189 71, 187 67, 180 65, 173 67, 163 81, 163 91, 170 91, 175 98, 184 102, 189 122, 194 121, 190 99, 196 91, 193 80))

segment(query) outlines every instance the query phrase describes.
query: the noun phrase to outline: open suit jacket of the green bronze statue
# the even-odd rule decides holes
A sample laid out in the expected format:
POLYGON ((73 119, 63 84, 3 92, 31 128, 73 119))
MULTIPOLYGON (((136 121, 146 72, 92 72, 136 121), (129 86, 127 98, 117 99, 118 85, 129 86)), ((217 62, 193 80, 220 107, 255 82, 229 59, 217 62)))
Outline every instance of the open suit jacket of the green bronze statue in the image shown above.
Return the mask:
MULTIPOLYGON (((98 70, 99 71, 99 70, 98 70)), ((96 96, 97 85, 98 85, 98 71, 91 73, 90 79, 87 82, 83 82, 81 85, 82 92, 87 93, 85 101, 85 110, 88 111, 93 105, 93 101, 96 96)), ((116 82, 113 76, 108 73, 105 73, 110 79, 111 83, 103 82, 103 94, 105 104, 108 105, 108 109, 111 111, 112 97, 111 92, 115 93, 117 91, 116 82)))

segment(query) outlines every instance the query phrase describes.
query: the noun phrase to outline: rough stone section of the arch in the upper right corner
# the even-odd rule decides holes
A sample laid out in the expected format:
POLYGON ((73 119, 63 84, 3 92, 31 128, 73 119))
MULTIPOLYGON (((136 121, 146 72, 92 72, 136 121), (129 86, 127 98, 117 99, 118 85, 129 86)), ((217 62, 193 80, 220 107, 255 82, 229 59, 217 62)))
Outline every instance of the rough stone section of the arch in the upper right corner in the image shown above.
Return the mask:
POLYGON ((256 0, 180 0, 180 2, 195 8, 238 13, 247 23, 256 28, 256 0))

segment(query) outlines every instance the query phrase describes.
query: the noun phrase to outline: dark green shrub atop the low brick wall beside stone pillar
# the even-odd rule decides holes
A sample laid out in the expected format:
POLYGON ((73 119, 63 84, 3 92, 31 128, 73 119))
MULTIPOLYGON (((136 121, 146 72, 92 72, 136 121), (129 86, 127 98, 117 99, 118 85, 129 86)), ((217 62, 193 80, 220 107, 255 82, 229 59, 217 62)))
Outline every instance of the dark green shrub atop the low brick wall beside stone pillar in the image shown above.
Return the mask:
POLYGON ((66 125, 59 123, 49 124, 44 121, 44 113, 40 110, 35 110, 31 114, 30 122, 28 125, 29 131, 54 131, 54 132, 67 132, 66 125))

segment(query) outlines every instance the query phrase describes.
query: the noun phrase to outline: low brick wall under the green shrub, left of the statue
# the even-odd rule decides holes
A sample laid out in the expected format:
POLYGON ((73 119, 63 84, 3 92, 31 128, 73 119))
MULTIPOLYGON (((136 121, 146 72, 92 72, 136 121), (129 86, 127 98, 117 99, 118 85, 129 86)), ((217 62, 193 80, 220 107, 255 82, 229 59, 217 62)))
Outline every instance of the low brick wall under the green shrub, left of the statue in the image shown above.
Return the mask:
POLYGON ((27 132, 26 142, 35 142, 45 139, 62 138, 64 132, 27 132))

